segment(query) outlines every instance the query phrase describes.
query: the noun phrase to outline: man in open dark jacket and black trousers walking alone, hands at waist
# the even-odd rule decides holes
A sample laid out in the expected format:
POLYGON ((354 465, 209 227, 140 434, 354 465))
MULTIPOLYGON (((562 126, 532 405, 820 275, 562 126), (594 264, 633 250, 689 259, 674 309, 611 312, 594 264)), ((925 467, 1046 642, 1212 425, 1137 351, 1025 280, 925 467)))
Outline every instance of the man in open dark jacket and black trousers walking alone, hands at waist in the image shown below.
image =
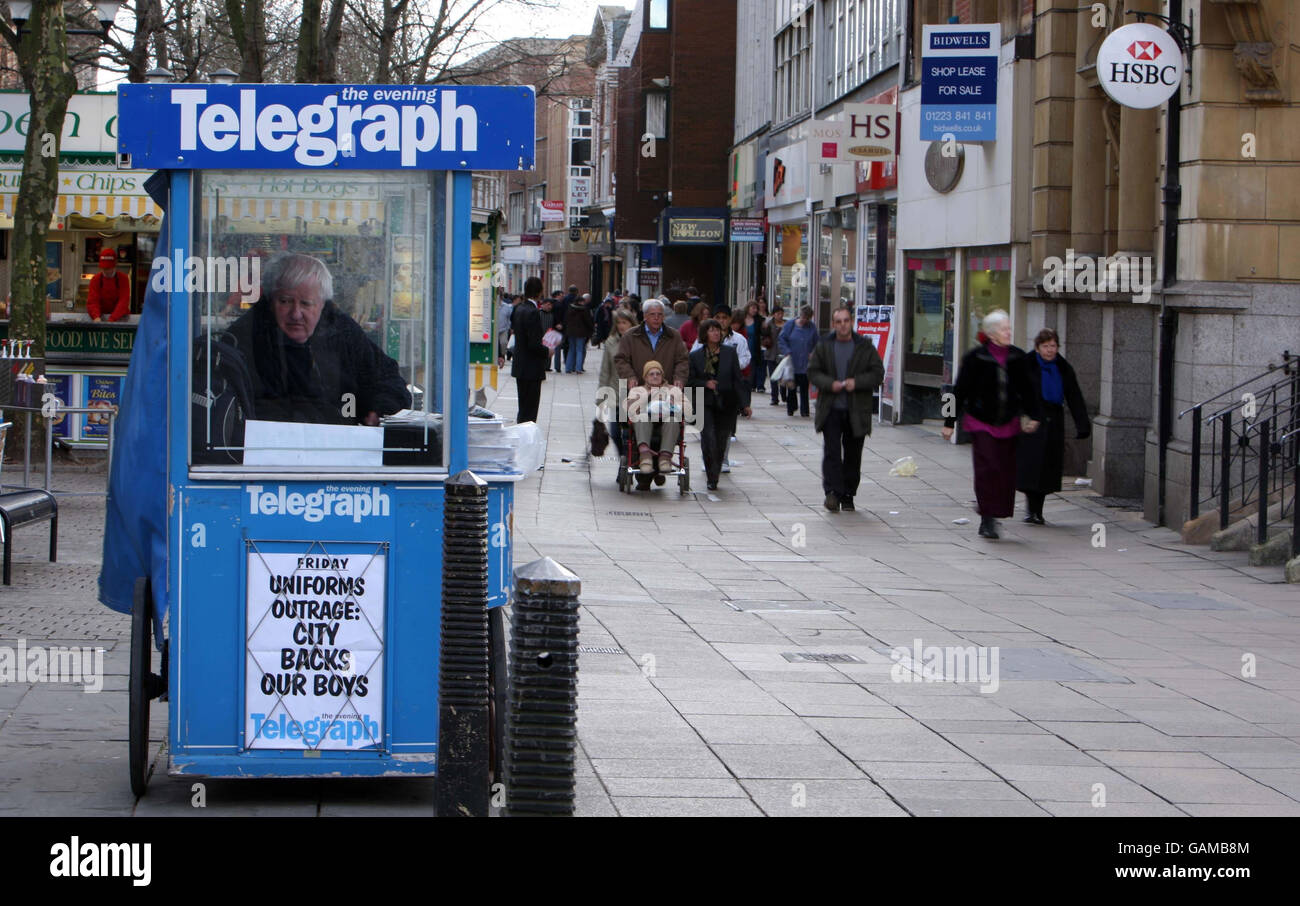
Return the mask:
POLYGON ((809 356, 809 383, 818 389, 822 490, 831 512, 853 510, 862 480, 862 446, 871 434, 871 395, 885 377, 875 344, 853 330, 853 309, 837 308, 835 333, 809 356))

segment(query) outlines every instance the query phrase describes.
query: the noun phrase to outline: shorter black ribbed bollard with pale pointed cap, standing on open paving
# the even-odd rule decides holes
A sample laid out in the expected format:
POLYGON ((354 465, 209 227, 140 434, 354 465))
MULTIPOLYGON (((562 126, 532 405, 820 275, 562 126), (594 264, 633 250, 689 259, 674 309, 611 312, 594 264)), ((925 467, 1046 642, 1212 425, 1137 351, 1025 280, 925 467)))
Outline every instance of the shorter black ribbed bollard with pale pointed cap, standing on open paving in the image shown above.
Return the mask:
POLYGON ((506 814, 572 815, 577 607, 582 584, 550 558, 515 571, 506 814))

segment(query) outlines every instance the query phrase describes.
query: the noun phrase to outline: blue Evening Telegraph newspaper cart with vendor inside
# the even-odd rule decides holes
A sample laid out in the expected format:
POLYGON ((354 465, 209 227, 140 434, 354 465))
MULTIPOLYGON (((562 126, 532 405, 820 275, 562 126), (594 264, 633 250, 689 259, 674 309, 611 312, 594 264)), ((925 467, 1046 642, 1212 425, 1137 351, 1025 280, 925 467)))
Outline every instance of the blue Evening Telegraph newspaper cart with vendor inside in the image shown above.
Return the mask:
MULTIPOLYGON (((433 775, 471 172, 533 166, 533 90, 118 91, 122 165, 165 211, 101 576, 133 612, 133 789, 151 699, 172 775, 433 775)), ((499 699, 520 476, 481 477, 499 699)))

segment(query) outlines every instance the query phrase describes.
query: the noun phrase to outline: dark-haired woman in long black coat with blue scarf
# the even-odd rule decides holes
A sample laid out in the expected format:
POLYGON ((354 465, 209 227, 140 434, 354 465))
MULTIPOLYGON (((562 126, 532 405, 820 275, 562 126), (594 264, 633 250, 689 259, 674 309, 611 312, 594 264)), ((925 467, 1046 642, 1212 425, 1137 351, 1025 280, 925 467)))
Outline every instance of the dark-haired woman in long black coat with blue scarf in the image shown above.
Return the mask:
POLYGON ((1065 464, 1065 407, 1070 407, 1074 426, 1082 441, 1092 434, 1088 406, 1083 402, 1074 368, 1060 355, 1061 338, 1046 328, 1034 341, 1034 352, 1024 357, 1030 387, 1043 411, 1043 426, 1020 438, 1015 450, 1015 487, 1024 493, 1031 525, 1045 525, 1043 500, 1061 490, 1065 464))

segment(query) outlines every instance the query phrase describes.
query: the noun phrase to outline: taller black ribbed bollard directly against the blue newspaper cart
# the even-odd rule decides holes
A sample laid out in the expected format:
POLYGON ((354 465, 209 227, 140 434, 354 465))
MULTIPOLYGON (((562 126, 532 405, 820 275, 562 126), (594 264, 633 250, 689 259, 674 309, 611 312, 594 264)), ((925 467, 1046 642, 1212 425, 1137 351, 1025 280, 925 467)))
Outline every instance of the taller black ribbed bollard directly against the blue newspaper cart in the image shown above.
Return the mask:
POLYGON ((446 484, 436 814, 488 816, 488 482, 446 484))

